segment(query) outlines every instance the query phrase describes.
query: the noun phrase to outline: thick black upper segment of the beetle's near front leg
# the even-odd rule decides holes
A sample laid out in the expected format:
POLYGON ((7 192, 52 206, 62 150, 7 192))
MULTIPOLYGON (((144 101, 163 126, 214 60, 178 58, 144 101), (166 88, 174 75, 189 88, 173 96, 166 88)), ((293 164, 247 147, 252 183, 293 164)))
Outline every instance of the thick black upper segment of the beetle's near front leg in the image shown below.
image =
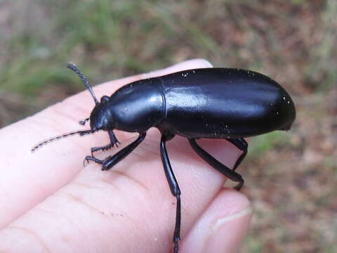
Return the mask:
POLYGON ((140 134, 136 141, 130 143, 125 148, 119 150, 116 154, 105 158, 102 164, 102 170, 111 169, 115 164, 123 160, 128 154, 130 154, 137 146, 144 140, 146 133, 140 134))

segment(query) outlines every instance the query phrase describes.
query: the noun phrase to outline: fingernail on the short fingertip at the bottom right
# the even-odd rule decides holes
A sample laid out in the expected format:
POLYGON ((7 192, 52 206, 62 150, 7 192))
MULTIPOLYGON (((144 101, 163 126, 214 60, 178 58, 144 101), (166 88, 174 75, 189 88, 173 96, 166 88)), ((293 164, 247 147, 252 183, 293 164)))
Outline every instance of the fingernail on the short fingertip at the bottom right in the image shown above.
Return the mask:
POLYGON ((218 219, 210 229, 202 252, 237 252, 242 245, 251 220, 252 209, 218 219))

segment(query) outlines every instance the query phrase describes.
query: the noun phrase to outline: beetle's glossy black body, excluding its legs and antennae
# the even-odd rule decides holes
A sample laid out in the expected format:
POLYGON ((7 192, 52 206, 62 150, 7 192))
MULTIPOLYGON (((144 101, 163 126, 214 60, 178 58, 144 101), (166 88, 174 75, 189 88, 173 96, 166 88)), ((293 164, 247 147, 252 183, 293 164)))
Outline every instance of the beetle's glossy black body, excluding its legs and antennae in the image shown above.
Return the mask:
MULTIPOLYGON (((105 120, 113 122, 110 129, 141 133, 156 126, 166 136, 187 138, 242 138, 288 130, 296 117, 293 100, 277 82, 234 68, 143 79, 121 87, 99 106, 105 120)), ((97 111, 92 116, 102 119, 97 111)))

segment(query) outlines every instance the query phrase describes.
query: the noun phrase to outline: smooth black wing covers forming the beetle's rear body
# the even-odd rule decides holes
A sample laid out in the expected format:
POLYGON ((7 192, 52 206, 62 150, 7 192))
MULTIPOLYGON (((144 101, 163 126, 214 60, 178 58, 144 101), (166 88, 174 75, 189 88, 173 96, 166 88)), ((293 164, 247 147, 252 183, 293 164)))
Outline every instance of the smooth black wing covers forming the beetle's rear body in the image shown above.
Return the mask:
POLYGON ((240 138, 289 129, 293 100, 258 72, 209 68, 159 77, 164 86, 163 126, 190 138, 240 138))

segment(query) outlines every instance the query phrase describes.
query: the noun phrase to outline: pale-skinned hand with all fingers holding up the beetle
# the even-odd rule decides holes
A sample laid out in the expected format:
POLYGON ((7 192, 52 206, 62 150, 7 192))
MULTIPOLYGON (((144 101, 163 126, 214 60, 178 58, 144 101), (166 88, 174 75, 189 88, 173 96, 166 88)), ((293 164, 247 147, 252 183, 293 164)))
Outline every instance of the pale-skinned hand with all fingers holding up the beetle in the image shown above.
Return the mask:
MULTIPOLYGON (((111 96, 138 79, 198 67, 211 65, 189 60, 100 84, 94 91, 98 98, 111 96)), ((82 164, 91 147, 108 143, 103 131, 30 152, 51 136, 88 129, 88 123, 78 122, 93 106, 90 94, 83 91, 0 129, 0 252, 171 252, 176 199, 162 168, 157 129, 150 129, 145 141, 109 171, 101 171, 94 162, 82 164)), ((115 133, 119 148, 97 153, 98 158, 136 138, 115 133)), ((240 154, 226 141, 199 143, 228 167, 240 154)), ((185 138, 176 136, 167 148, 182 192, 179 252, 237 252, 251 219, 249 200, 223 188, 225 176, 201 160, 185 138)))

